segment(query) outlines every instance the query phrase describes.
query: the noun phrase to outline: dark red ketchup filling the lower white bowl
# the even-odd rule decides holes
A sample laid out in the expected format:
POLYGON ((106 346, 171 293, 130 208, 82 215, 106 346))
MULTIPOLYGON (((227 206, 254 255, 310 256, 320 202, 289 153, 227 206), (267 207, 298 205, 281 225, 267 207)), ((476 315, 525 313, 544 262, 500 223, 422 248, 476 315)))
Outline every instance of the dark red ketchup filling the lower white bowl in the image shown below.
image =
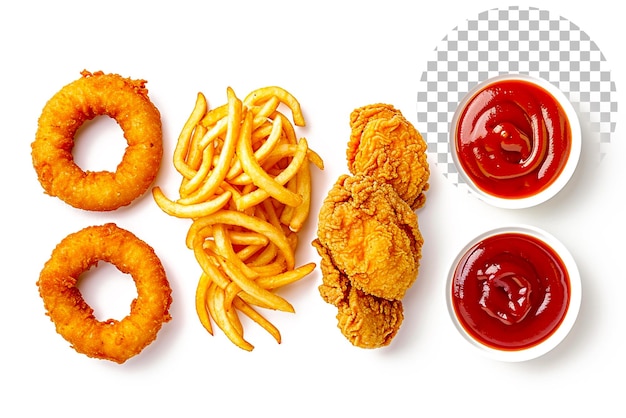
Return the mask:
POLYGON ((491 348, 521 350, 559 327, 569 306, 570 280, 546 243, 506 232, 463 255, 451 291, 455 314, 470 336, 491 348))

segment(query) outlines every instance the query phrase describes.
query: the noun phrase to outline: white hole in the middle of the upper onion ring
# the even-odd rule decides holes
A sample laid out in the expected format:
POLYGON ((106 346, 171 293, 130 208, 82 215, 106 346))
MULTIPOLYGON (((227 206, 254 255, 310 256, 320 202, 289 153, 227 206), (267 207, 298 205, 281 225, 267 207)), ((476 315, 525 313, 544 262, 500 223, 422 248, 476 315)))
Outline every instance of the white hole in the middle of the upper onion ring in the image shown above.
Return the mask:
POLYGON ((124 132, 115 119, 101 115, 78 128, 72 155, 83 171, 115 172, 126 147, 124 132))

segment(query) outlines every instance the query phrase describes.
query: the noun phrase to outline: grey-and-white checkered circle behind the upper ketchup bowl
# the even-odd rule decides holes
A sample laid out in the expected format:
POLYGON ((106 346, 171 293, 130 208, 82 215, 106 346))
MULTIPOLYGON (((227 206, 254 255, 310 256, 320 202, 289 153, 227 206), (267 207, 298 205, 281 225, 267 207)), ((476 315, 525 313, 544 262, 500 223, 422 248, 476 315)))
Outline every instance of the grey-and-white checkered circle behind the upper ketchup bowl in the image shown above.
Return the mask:
POLYGON ((443 174, 459 177, 449 148, 457 104, 477 83, 506 73, 556 85, 576 109, 583 132, 604 157, 615 131, 617 94, 598 46, 572 22, 537 8, 492 9, 453 29, 433 51, 417 93, 418 129, 443 174))

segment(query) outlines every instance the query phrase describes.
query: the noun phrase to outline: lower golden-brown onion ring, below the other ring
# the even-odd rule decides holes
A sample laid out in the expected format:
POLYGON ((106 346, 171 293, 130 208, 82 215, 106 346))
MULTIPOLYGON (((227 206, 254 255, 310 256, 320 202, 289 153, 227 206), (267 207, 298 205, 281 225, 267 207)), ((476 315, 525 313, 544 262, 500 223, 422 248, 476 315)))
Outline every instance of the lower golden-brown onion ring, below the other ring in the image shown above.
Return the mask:
POLYGON ((37 281, 47 315, 79 353, 124 363, 156 339, 171 319, 171 288, 152 247, 113 223, 86 227, 52 251, 37 281), (130 314, 98 321, 77 287, 81 273, 99 261, 129 273, 137 286, 130 314))

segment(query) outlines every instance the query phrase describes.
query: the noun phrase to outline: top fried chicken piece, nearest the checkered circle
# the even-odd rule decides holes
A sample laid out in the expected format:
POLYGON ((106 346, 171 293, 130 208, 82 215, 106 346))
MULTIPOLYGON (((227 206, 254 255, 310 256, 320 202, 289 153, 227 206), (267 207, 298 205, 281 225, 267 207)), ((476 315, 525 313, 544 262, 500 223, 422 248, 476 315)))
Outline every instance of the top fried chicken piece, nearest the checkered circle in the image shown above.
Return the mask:
POLYGON ((391 105, 372 104, 350 115, 348 169, 389 183, 411 209, 426 201, 430 169, 427 145, 415 127, 391 105))

